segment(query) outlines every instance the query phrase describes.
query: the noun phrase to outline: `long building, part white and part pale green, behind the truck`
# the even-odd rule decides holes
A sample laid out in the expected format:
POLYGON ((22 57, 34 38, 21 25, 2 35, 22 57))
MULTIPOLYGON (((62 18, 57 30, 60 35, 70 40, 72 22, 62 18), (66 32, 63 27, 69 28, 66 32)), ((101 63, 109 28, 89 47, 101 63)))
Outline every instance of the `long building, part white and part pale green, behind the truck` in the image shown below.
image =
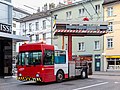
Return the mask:
MULTIPOLYGON (((29 36, 30 43, 44 40, 62 49, 62 37, 54 36, 54 20, 83 21, 88 18, 92 22, 103 21, 103 0, 80 1, 51 9, 48 12, 38 12, 21 19, 21 35, 29 36), (49 14, 48 14, 49 13, 49 14)), ((91 23, 92 24, 92 23, 91 23)), ((103 36, 84 36, 72 38, 73 56, 86 59, 92 71, 103 71, 103 36)), ((68 37, 64 37, 64 49, 68 50, 68 37)))

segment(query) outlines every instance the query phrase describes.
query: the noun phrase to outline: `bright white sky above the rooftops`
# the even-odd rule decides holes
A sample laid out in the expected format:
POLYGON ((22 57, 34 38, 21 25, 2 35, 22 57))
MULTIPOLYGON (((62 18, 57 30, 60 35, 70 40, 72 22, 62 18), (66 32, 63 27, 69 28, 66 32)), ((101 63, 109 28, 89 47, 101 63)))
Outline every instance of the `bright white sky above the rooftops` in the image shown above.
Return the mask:
POLYGON ((59 2, 63 2, 63 0, 12 0, 13 6, 24 8, 24 9, 27 9, 28 11, 29 10, 35 11, 34 9, 37 10, 38 7, 40 7, 40 9, 42 9, 44 4, 52 3, 52 2, 55 4, 58 4, 59 2), (31 9, 31 8, 34 8, 34 9, 31 9))

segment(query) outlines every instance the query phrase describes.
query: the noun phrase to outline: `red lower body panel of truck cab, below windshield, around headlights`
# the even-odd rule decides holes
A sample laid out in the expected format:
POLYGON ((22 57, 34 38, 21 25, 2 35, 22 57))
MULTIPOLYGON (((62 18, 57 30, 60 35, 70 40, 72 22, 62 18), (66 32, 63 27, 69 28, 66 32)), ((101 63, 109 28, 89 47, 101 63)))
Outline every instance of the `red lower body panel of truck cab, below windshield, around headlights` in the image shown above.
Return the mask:
POLYGON ((54 75, 54 65, 53 66, 18 66, 18 73, 22 74, 22 77, 32 77, 35 78, 36 74, 40 74, 42 82, 52 82, 56 80, 54 75))

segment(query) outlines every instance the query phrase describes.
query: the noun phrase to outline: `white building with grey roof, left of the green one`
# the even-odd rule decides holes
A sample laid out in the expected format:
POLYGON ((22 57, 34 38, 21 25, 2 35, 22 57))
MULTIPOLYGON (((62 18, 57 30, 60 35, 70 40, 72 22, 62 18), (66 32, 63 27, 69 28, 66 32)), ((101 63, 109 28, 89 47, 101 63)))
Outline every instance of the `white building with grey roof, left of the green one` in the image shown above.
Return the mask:
POLYGON ((20 20, 21 35, 29 36, 29 43, 45 41, 51 44, 51 15, 49 11, 38 12, 20 20))

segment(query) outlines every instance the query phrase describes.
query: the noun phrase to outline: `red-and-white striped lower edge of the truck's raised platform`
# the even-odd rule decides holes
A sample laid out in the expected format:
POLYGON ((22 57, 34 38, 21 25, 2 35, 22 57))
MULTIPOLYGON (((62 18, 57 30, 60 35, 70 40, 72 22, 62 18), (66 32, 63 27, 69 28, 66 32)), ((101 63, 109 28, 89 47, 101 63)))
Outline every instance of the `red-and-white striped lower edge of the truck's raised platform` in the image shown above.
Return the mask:
POLYGON ((54 32, 54 35, 73 35, 73 36, 100 36, 106 34, 106 30, 64 30, 64 29, 57 29, 54 32))

